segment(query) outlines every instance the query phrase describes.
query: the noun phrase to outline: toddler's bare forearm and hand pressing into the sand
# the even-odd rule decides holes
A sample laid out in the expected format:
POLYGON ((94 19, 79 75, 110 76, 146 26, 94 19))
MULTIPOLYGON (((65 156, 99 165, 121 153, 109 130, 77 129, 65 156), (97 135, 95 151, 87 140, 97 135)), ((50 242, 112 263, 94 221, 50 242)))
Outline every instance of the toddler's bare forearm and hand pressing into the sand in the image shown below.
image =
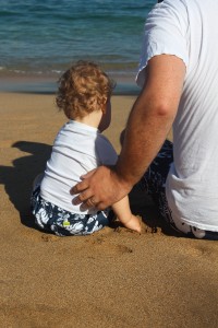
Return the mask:
POLYGON ((140 219, 132 214, 128 196, 113 203, 112 210, 125 227, 141 233, 142 226, 140 219))

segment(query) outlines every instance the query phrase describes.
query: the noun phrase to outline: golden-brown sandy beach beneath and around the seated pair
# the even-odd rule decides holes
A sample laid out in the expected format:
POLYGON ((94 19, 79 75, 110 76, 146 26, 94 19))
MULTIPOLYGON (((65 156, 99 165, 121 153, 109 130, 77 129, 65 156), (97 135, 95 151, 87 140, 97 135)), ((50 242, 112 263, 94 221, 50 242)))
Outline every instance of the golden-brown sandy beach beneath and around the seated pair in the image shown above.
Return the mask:
MULTIPOLYGON (((105 133, 118 152, 134 99, 112 97, 105 133)), ((40 232, 32 183, 65 117, 55 95, 25 93, 0 93, 0 327, 218 327, 218 243, 173 234, 135 194, 141 235, 122 226, 85 237, 40 232)))

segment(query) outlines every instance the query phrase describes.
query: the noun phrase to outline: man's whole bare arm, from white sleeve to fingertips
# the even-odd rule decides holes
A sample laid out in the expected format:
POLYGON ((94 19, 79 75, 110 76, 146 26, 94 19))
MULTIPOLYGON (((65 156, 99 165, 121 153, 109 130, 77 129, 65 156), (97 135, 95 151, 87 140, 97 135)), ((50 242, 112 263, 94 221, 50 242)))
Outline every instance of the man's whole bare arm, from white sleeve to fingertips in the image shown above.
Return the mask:
POLYGON ((123 148, 114 169, 98 167, 72 188, 76 203, 98 209, 130 192, 158 153, 174 120, 185 74, 184 62, 160 55, 149 60, 147 80, 131 110, 123 148))

